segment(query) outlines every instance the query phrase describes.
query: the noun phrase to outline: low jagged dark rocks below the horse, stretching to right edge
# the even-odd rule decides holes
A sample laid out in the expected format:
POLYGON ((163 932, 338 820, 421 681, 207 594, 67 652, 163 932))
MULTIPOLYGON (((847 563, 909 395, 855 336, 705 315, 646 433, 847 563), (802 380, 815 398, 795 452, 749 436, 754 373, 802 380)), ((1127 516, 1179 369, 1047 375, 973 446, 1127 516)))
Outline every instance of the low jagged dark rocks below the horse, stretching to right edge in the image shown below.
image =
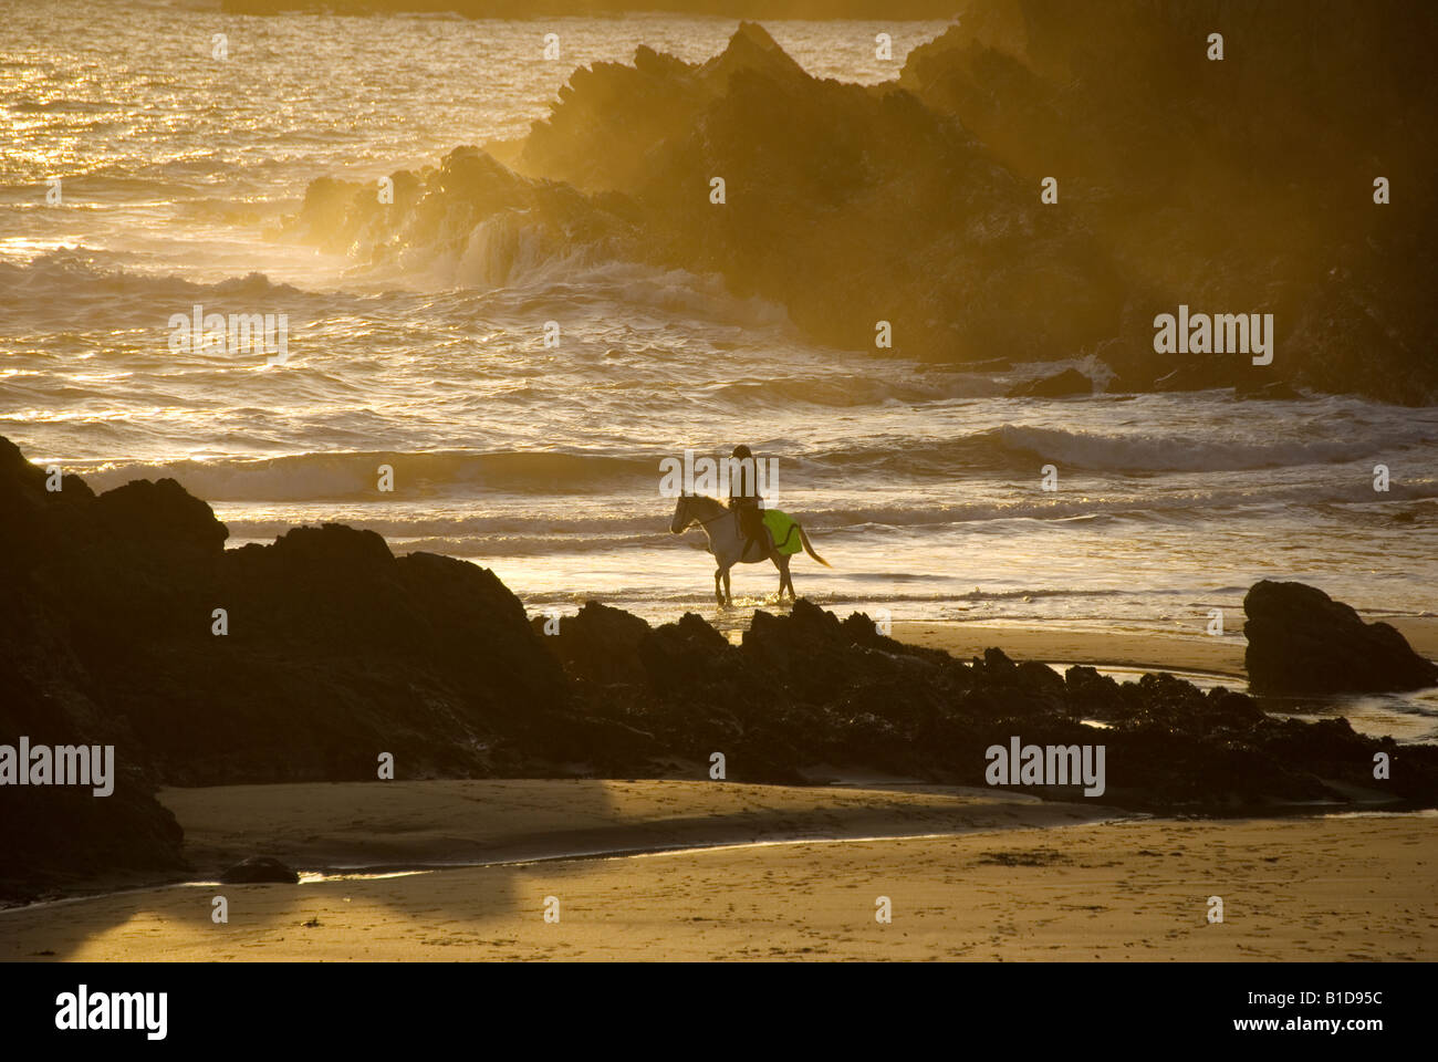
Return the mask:
MULTIPOLYGON (((617 645, 613 626, 598 625, 572 626, 559 640, 569 642, 561 652, 571 659, 617 645)), ((985 750, 1018 735, 1025 744, 1104 744, 1103 800, 1127 807, 1251 810, 1345 802, 1355 789, 1438 803, 1435 747, 1362 737, 1343 720, 1273 718, 1244 694, 1204 692, 1171 675, 1129 684, 1081 666, 1058 675, 999 649, 965 663, 894 642, 861 613, 840 620, 805 600, 788 616, 756 612, 738 646, 684 616, 649 630, 634 658, 641 676, 604 686, 591 711, 664 755, 707 764, 723 753, 735 779, 794 781, 805 766, 827 763, 984 786, 985 750), (1376 751, 1401 758, 1405 776, 1376 786, 1376 751)), ((608 754, 623 761, 634 748, 620 740, 608 754)))

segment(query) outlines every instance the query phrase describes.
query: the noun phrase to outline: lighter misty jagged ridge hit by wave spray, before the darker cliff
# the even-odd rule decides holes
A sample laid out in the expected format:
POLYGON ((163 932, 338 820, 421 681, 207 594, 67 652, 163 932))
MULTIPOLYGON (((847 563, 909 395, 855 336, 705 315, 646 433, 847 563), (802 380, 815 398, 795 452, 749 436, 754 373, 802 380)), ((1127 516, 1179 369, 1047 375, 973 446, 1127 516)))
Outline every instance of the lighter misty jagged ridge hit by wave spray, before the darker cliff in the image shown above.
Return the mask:
POLYGON ((1087 233, 962 122, 893 85, 812 78, 755 23, 703 63, 641 46, 575 71, 512 161, 523 176, 457 150, 397 174, 388 207, 316 181, 295 230, 370 260, 429 255, 467 283, 569 256, 720 273, 850 350, 887 321, 887 351, 922 361, 1073 357, 1122 305, 1087 233))

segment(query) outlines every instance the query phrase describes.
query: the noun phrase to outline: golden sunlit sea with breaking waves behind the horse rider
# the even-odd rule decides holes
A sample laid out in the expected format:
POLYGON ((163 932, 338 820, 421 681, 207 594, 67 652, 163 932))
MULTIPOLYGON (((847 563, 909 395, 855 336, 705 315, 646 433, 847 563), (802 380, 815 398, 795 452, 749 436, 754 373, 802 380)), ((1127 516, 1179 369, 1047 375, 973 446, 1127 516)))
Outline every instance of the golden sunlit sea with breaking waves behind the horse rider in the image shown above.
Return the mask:
MULTIPOLYGON (((502 226, 384 268, 283 235, 316 178, 522 137, 575 66, 640 43, 700 60, 731 20, 6 0, 0 26, 0 435, 96 489, 174 476, 232 547, 338 521, 490 567, 532 613, 598 599, 736 629, 772 570, 736 571, 748 609, 716 612, 703 538, 667 532, 659 485, 666 458, 745 442, 778 459, 772 502, 834 564, 795 564, 800 593, 841 613, 1199 635, 1219 609, 1235 639, 1267 577, 1432 614, 1434 407, 1008 399, 1040 371, 1103 373, 830 350, 718 278, 502 226), (549 32, 559 60, 542 58, 549 32), (286 364, 167 347, 173 314, 236 301, 288 314, 286 364)), ((874 83, 943 23, 766 27, 805 69, 874 83)))

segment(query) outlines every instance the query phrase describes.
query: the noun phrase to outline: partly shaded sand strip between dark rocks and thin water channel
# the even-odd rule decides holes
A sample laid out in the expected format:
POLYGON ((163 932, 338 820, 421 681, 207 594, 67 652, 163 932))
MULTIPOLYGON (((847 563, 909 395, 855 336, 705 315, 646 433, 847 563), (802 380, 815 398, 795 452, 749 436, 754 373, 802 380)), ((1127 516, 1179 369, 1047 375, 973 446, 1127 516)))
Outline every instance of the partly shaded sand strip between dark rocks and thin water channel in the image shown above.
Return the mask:
MULTIPOLYGON (((696 764, 695 777, 700 776, 696 764)), ((1104 804, 910 780, 877 780, 866 787, 693 779, 429 779, 175 786, 162 787, 158 799, 186 832, 183 853, 190 872, 160 878, 116 872, 89 888, 3 904, 0 918, 167 889, 236 888, 220 884, 219 876, 250 855, 279 858, 302 875, 302 885, 312 885, 348 875, 765 843, 958 836, 1011 823, 1148 817, 1104 804)))

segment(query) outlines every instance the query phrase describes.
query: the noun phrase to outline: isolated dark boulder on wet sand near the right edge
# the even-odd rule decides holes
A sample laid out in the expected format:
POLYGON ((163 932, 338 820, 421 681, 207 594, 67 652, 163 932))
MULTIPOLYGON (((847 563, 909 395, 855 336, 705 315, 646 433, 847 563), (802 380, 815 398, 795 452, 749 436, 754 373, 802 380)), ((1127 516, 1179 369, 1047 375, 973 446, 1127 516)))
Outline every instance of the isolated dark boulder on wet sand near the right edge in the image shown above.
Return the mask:
POLYGON ((1438 686, 1438 665, 1388 623, 1365 623, 1303 583, 1255 583, 1244 597, 1244 662, 1258 694, 1386 692, 1438 686))

